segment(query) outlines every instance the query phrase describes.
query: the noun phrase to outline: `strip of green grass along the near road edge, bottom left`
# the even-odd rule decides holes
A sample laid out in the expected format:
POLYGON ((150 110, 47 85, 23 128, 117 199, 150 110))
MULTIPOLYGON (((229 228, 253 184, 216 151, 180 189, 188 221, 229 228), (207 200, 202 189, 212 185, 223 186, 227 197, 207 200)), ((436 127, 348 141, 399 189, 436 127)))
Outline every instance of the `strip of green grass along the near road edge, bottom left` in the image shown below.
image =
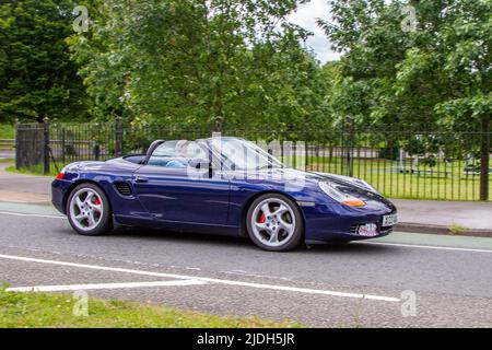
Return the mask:
POLYGON ((89 299, 89 315, 77 317, 68 294, 0 290, 0 328, 286 328, 301 325, 257 317, 215 316, 133 302, 89 299))

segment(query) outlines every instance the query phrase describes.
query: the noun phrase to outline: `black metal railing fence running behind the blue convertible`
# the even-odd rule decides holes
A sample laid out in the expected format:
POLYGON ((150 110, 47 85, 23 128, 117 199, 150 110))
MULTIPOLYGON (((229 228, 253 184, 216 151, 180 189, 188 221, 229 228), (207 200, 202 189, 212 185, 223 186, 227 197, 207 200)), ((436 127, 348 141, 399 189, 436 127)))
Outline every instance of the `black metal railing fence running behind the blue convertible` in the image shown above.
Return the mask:
MULTIPOLYGON (((103 161, 144 153, 155 139, 195 140, 210 129, 166 125, 17 125, 16 166, 42 166, 45 173, 75 161, 103 161)), ((356 129, 225 130, 263 147, 280 144, 284 163, 296 168, 354 176, 393 198, 489 200, 491 135, 487 131, 389 131, 356 129)))

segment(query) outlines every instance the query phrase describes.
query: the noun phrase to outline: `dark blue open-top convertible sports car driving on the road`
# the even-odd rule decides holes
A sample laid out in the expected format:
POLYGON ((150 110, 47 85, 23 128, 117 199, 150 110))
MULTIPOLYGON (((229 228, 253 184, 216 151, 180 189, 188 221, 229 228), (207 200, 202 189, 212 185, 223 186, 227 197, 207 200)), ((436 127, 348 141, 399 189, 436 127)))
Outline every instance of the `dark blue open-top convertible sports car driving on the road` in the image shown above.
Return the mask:
POLYGON ((148 226, 249 236, 274 252, 384 236, 397 223, 367 183, 286 167, 236 138, 155 141, 145 155, 70 164, 52 203, 83 235, 148 226))

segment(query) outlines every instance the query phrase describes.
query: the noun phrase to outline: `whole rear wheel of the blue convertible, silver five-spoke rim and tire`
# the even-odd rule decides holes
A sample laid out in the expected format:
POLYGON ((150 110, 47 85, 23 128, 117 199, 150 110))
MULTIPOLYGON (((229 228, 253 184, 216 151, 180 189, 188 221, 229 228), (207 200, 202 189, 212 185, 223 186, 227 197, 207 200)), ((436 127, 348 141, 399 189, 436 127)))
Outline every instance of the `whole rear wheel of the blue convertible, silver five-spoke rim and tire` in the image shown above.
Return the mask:
POLYGON ((93 184, 82 184, 71 192, 67 214, 73 230, 82 235, 97 236, 112 230, 109 201, 93 184))

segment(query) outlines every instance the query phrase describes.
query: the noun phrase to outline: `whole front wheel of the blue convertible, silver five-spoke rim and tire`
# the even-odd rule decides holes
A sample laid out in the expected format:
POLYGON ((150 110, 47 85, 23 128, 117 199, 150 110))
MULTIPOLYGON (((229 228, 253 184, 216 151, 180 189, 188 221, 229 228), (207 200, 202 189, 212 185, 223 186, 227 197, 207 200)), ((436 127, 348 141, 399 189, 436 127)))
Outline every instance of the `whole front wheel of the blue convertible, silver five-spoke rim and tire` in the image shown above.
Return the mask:
POLYGON ((265 195, 255 200, 246 223, 249 237, 265 250, 292 250, 304 236, 303 218, 297 206, 277 194, 265 195))

